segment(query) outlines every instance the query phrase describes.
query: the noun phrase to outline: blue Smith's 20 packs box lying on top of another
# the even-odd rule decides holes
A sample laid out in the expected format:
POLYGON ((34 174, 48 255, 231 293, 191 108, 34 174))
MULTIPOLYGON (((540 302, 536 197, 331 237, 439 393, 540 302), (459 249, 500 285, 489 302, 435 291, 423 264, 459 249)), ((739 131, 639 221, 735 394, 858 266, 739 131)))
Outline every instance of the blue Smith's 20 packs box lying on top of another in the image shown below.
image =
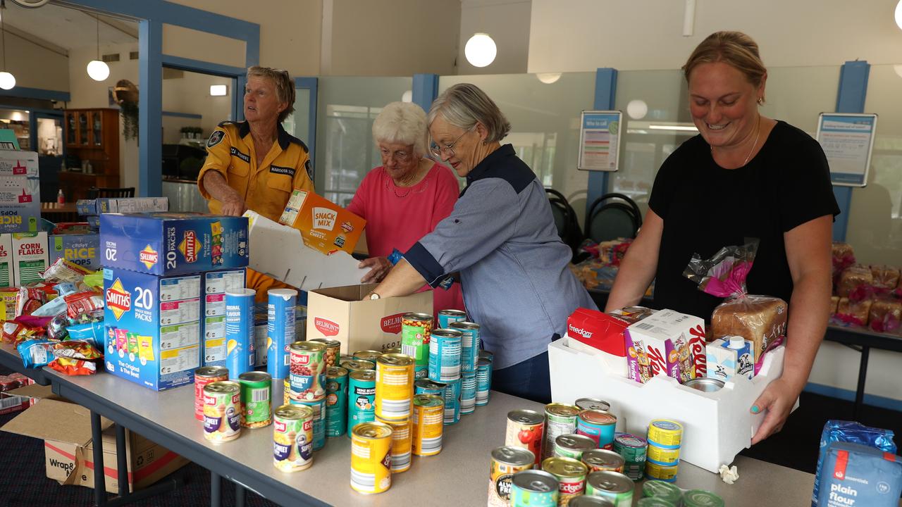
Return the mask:
POLYGON ((155 275, 244 268, 247 218, 193 213, 105 213, 100 264, 155 275))

